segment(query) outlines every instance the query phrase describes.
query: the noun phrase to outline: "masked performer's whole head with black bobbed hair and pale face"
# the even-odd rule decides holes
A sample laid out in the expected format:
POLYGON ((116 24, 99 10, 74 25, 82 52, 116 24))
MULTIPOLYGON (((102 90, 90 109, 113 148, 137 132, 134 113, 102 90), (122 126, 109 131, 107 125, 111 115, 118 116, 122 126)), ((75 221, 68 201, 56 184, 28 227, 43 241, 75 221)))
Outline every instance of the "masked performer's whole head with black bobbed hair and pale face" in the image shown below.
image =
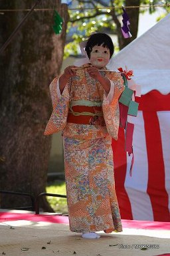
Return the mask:
POLYGON ((103 68, 114 53, 114 44, 107 34, 96 33, 88 39, 85 51, 93 66, 103 68))

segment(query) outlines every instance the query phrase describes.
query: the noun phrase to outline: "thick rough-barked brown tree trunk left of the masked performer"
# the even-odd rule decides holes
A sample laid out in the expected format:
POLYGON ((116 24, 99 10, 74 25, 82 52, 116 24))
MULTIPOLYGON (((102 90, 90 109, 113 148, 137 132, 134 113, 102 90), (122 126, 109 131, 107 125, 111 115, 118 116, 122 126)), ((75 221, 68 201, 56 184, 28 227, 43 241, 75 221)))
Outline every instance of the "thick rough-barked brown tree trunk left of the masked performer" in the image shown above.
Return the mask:
MULTIPOLYGON (((0 0, 0 9, 29 9, 31 0, 0 0)), ((0 190, 45 192, 50 137, 43 135, 50 117, 48 85, 60 72, 67 5, 42 0, 36 8, 54 8, 64 19, 62 33, 52 30, 53 11, 33 11, 0 57, 0 190)), ((0 46, 27 12, 0 14, 0 46)), ((1 195, 1 207, 30 205, 27 197, 1 195)), ((42 203, 45 211, 52 210, 42 203)))

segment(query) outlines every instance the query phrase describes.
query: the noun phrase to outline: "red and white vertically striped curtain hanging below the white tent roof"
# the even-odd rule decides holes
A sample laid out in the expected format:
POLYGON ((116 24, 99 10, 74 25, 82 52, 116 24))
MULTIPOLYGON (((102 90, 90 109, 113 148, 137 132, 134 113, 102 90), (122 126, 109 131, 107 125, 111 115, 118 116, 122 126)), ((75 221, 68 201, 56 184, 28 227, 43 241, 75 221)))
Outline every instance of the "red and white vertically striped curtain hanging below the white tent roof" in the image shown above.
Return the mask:
POLYGON ((112 140, 116 193, 122 219, 170 221, 170 94, 141 96, 133 118, 134 164, 124 151, 124 130, 112 140))

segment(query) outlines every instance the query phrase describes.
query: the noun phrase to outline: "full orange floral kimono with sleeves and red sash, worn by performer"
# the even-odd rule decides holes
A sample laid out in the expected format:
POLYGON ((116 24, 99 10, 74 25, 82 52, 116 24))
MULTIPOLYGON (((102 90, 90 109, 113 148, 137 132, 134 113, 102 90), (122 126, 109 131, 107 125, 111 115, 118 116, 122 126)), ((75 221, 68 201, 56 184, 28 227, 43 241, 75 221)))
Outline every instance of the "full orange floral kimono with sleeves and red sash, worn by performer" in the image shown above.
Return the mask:
POLYGON ((104 88, 86 72, 86 66, 89 64, 70 78, 62 95, 57 89, 58 78, 50 84, 53 111, 44 134, 63 130, 70 230, 122 231, 111 141, 118 136, 118 98, 124 81, 118 72, 100 71, 114 85, 109 102, 104 88))

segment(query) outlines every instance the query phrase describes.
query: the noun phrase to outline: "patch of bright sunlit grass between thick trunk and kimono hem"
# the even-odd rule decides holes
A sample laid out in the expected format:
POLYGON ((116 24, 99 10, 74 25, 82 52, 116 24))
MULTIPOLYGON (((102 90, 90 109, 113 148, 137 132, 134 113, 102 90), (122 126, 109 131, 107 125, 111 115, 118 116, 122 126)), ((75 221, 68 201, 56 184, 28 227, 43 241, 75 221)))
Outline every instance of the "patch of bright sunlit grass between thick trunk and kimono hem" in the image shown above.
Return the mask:
MULTIPOLYGON (((46 186, 46 192, 66 195, 66 183, 64 181, 50 182, 46 186)), ((56 213, 68 213, 66 198, 47 196, 46 199, 56 213)))

